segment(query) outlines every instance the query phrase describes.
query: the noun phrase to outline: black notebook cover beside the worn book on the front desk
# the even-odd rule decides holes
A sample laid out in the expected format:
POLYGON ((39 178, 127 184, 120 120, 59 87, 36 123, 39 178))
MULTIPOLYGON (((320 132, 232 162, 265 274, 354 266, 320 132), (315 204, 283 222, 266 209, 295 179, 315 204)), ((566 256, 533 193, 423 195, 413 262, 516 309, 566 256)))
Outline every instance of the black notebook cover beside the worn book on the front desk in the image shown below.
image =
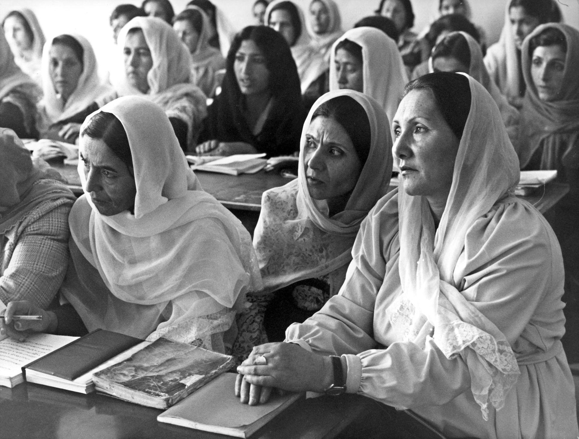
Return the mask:
POLYGON ((22 368, 72 381, 115 355, 141 343, 130 335, 97 329, 22 368))

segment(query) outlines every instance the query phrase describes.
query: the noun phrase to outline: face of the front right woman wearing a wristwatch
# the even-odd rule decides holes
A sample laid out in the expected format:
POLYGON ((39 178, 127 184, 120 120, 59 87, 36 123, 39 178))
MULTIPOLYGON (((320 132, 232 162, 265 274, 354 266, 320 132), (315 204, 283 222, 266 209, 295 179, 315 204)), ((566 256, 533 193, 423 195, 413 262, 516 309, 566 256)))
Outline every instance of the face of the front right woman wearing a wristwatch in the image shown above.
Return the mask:
POLYGON ((394 163, 408 195, 446 202, 459 139, 442 116, 430 90, 412 90, 394 115, 394 163))

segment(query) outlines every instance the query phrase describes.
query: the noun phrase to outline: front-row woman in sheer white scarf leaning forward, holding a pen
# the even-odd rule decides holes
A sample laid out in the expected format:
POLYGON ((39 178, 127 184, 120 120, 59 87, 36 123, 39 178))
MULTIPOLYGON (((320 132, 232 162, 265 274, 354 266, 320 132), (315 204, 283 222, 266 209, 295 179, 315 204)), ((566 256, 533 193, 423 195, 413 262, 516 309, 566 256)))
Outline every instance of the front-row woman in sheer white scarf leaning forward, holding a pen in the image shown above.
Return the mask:
POLYGON ((241 222, 200 189, 163 110, 118 98, 87 118, 79 151, 85 195, 70 214, 60 290, 69 305, 47 312, 10 302, 5 330, 22 338, 28 328, 104 328, 223 352, 235 309, 261 287, 255 253, 241 222), (13 313, 43 320, 14 328, 13 313))

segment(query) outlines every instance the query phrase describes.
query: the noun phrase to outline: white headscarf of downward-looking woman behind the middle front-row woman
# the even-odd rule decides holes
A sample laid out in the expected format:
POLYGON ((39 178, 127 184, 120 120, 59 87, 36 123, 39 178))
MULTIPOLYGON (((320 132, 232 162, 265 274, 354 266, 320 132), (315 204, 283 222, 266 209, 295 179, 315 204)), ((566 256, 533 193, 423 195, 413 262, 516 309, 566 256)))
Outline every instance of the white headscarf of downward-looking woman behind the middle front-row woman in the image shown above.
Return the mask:
POLYGON ((378 101, 388 120, 393 120, 408 82, 396 42, 373 27, 357 27, 342 35, 332 46, 329 69, 329 89, 338 90, 334 66, 336 46, 345 39, 362 47, 364 94, 378 101))

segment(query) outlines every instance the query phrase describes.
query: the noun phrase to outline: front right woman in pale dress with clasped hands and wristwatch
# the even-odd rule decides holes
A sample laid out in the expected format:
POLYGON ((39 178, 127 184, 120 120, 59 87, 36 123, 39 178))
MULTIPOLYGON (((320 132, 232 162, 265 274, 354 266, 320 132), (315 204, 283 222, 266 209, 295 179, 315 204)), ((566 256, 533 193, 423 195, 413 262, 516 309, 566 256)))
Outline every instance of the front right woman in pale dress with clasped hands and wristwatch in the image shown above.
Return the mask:
POLYGON ((238 368, 241 401, 264 385, 368 396, 381 433, 360 437, 398 437, 407 415, 445 437, 577 437, 560 248, 510 195, 519 163, 497 106, 463 74, 407 90, 400 188, 362 223, 339 294, 238 368))

